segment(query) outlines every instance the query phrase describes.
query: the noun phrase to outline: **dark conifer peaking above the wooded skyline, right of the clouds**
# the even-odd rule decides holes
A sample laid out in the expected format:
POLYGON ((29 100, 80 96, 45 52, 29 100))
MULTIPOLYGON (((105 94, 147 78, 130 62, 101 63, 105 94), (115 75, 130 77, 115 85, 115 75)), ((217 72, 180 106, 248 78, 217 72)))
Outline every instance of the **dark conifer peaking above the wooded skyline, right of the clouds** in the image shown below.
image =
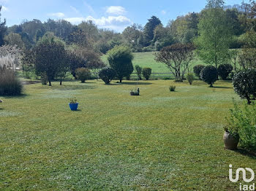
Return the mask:
POLYGON ((143 31, 148 44, 150 44, 151 40, 154 38, 154 29, 160 24, 162 23, 158 17, 152 16, 150 19, 148 19, 148 23, 146 23, 146 26, 144 26, 143 31))

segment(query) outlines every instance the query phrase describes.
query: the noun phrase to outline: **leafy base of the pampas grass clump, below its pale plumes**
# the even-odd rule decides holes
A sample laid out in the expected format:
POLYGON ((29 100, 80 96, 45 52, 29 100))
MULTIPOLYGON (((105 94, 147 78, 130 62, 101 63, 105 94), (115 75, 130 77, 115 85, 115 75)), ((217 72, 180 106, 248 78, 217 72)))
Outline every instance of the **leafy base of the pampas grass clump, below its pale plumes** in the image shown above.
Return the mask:
POLYGON ((0 95, 20 95, 23 85, 15 76, 15 71, 0 68, 0 95))

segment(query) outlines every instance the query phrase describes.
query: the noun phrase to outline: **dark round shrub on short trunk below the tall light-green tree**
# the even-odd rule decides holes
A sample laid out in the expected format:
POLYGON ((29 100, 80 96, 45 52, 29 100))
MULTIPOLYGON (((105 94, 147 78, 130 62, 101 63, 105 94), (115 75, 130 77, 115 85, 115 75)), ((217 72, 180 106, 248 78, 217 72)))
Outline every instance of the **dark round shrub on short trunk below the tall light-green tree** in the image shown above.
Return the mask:
POLYGON ((213 87, 214 82, 218 79, 218 71, 214 66, 205 66, 200 72, 200 77, 210 87, 213 87))

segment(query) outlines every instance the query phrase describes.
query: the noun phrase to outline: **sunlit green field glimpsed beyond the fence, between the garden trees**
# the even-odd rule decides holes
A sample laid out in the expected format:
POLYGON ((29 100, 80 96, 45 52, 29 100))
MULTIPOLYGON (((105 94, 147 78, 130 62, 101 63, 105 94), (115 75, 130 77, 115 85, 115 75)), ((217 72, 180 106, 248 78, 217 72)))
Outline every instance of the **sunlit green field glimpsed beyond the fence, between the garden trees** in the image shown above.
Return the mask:
MULTIPOLYGON (((154 61, 154 52, 135 52, 135 58, 132 61, 133 65, 139 65, 142 67, 150 67, 152 72, 154 73, 167 73, 170 70, 163 64, 157 63, 154 61)), ((102 61, 108 63, 106 55, 102 56, 102 61)), ((192 70, 193 66, 196 64, 203 64, 203 61, 200 61, 198 58, 195 58, 195 61, 192 61, 190 70, 192 70)))

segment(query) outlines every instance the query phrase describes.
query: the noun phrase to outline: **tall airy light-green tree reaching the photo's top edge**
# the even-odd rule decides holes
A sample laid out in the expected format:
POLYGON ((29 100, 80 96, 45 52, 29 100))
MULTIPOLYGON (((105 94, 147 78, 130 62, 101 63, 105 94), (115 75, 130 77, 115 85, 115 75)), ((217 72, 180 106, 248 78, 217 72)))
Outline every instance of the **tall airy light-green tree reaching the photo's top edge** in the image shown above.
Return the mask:
POLYGON ((195 39, 197 53, 206 63, 216 68, 225 63, 232 40, 232 28, 223 10, 222 0, 208 0, 198 24, 199 36, 195 39))

